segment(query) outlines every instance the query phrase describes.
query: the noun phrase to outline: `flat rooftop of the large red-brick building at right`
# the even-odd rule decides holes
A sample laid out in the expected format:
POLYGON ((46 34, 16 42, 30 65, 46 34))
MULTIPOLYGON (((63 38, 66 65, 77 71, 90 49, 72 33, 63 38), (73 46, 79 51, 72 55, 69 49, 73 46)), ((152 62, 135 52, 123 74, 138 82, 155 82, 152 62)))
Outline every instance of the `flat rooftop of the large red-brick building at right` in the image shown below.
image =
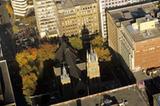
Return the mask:
MULTIPOLYGON (((144 41, 160 37, 160 23, 155 24, 155 28, 150 28, 144 31, 133 28, 133 23, 144 23, 149 20, 160 18, 160 9, 156 7, 157 2, 150 2, 128 6, 125 8, 109 10, 115 23, 123 25, 126 33, 131 36, 135 42, 144 41)), ((160 21, 160 19, 158 19, 160 21)), ((118 24, 117 24, 118 25, 118 24)), ((148 26, 146 26, 148 27, 148 26)))

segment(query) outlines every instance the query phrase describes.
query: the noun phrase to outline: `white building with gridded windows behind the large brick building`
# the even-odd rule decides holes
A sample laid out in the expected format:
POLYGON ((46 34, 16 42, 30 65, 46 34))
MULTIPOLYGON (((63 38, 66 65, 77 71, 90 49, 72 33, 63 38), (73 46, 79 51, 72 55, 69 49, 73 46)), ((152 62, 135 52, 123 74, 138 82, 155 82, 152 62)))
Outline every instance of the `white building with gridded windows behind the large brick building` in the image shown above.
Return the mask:
POLYGON ((107 38, 107 17, 106 9, 125 6, 128 4, 143 2, 145 0, 98 0, 99 2, 99 11, 100 11, 100 21, 101 21, 101 33, 103 38, 107 38))

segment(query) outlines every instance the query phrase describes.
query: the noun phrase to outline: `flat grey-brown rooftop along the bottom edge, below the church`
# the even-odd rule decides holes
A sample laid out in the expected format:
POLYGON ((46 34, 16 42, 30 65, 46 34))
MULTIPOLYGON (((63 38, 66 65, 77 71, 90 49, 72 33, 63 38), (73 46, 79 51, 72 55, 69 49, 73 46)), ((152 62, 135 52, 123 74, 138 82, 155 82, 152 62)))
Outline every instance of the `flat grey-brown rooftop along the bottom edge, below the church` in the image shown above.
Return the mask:
POLYGON ((148 102, 144 99, 135 84, 122 88, 82 97, 67 102, 54 104, 51 106, 96 106, 110 101, 111 106, 117 106, 122 100, 126 100, 128 106, 147 106, 148 102))

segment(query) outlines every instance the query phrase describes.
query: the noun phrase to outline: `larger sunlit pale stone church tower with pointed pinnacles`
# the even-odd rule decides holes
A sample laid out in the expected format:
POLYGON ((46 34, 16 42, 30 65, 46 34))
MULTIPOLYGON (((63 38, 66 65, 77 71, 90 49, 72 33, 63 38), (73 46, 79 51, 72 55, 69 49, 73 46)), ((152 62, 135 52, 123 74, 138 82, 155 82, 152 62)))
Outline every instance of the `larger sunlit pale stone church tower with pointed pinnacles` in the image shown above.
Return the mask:
POLYGON ((87 77, 89 79, 100 77, 98 56, 92 47, 89 52, 87 51, 87 77))

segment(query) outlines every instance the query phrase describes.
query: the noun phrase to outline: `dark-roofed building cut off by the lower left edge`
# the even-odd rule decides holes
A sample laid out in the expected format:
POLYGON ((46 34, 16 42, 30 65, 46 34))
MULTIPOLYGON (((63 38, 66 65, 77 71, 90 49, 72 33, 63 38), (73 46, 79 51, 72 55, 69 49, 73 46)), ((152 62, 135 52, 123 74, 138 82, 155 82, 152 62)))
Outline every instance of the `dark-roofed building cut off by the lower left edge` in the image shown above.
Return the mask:
POLYGON ((0 45, 0 105, 16 106, 7 62, 0 45))

